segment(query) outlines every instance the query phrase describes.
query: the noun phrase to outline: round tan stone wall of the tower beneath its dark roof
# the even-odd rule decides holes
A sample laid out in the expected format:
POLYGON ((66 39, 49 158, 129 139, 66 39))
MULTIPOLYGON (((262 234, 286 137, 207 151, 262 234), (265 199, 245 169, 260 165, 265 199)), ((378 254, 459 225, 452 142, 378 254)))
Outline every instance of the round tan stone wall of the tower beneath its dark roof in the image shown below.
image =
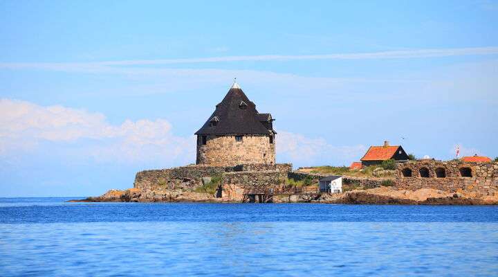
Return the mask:
POLYGON ((207 136, 205 145, 197 138, 197 164, 210 166, 237 166, 248 163, 275 163, 275 140, 269 136, 207 136))

